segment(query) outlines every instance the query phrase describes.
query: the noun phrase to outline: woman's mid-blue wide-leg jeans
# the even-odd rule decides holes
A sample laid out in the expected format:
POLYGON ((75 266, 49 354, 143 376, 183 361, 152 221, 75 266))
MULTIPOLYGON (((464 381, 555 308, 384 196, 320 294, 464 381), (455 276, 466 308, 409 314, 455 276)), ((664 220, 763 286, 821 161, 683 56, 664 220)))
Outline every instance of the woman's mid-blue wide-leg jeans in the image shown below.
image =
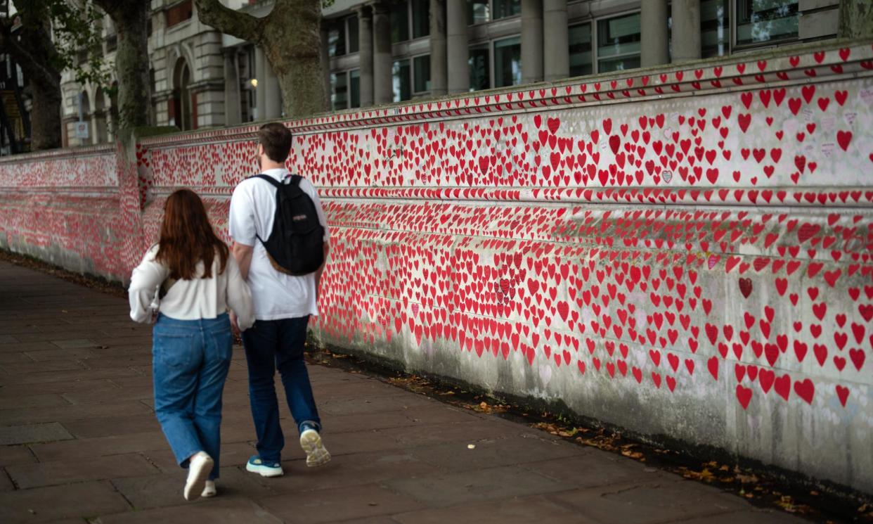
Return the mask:
POLYGON ((215 460, 218 478, 221 406, 230 369, 233 337, 227 314, 216 319, 178 321, 158 315, 152 330, 155 415, 176 462, 188 467, 196 452, 215 460))

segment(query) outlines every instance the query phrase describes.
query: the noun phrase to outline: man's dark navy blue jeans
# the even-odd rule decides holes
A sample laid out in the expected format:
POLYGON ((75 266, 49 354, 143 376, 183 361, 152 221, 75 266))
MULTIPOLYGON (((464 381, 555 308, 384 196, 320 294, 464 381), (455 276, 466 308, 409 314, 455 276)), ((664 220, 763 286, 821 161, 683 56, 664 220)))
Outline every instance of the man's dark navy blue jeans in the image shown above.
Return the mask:
POLYGON ((303 360, 308 323, 308 315, 278 321, 255 321, 253 327, 243 332, 245 358, 249 362, 251 417, 258 434, 258 456, 265 462, 278 462, 285 446, 282 427, 278 423, 278 400, 273 382, 276 369, 282 376, 285 398, 298 431, 303 424, 321 429, 313 387, 303 360))

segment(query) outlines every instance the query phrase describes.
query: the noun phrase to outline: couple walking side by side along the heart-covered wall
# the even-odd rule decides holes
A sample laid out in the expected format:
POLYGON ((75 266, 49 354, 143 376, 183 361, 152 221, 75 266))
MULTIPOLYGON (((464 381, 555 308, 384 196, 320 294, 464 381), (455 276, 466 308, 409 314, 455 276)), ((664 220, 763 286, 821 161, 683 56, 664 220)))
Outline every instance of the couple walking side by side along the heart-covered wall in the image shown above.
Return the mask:
POLYGON ((285 438, 273 382, 277 369, 306 465, 330 460, 303 358, 309 317, 318 314, 327 221, 313 185, 285 169, 291 142, 291 131, 282 124, 265 124, 258 131, 261 174, 237 185, 230 199, 231 249, 213 231, 200 197, 177 190, 167 199, 159 242, 131 277, 131 318, 148 322, 158 312, 152 350, 155 414, 176 461, 189 470, 187 500, 216 494, 231 328, 242 332, 258 436, 258 453, 246 469, 265 477, 283 474, 285 438), (311 227, 301 229, 301 224, 311 227), (301 238, 302 245, 318 252, 292 253, 290 246, 298 248, 301 238), (302 259, 309 261, 308 269, 303 264, 305 274, 302 259))

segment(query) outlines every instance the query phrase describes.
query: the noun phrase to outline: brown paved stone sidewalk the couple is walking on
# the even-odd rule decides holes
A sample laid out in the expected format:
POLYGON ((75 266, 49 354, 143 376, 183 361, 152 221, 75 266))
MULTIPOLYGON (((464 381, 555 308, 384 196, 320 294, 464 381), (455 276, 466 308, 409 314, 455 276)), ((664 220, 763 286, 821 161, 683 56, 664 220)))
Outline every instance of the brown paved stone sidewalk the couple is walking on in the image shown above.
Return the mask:
MULTIPOLYGON (((151 333, 125 300, 0 262, 0 522, 802 522, 498 417, 311 366, 333 462, 254 452, 245 359, 224 390, 219 496, 182 499, 152 411, 151 333), (469 449, 468 445, 475 445, 469 449)), ((285 431, 293 431, 285 410, 285 431)))

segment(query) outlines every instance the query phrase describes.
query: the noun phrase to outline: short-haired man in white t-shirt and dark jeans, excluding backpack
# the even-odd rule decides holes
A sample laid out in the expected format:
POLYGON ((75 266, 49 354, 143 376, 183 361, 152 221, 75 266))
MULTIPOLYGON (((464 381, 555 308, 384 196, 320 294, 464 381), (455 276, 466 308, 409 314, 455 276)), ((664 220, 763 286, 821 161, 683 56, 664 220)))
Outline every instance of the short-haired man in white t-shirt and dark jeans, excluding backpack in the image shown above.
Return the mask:
MULTIPOLYGON (((292 135, 280 123, 268 123, 258 130, 258 163, 261 175, 288 183, 291 173, 285 159, 291 151, 292 135)), ((299 180, 299 189, 309 196, 324 228, 324 259, 327 260, 329 233, 318 193, 312 183, 299 180)), ((255 325, 243 332, 245 358, 249 365, 251 417, 258 434, 258 454, 245 466, 265 477, 283 474, 281 459, 285 438, 278 421, 274 387, 276 369, 282 377, 285 397, 297 423, 306 465, 324 465, 330 460, 321 442, 321 424, 303 349, 310 315, 318 315, 318 288, 322 264, 313 273, 292 276, 274 266, 263 241, 270 237, 277 209, 277 188, 273 183, 250 177, 237 185, 230 198, 230 237, 233 256, 243 279, 251 286, 255 325)), ((231 319, 236 321, 236 319, 231 319)))

